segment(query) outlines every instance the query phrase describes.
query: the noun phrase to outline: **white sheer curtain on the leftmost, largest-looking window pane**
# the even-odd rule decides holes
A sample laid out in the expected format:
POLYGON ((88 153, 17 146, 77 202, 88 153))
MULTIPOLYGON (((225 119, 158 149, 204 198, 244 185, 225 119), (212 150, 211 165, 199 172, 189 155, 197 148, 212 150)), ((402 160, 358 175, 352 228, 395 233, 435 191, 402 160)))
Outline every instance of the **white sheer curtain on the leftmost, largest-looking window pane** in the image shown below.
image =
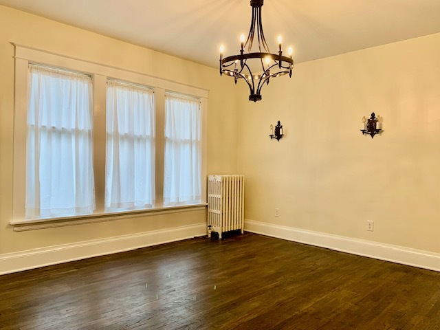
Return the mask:
POLYGON ((89 76, 29 67, 28 219, 85 214, 95 208, 91 89, 89 76))

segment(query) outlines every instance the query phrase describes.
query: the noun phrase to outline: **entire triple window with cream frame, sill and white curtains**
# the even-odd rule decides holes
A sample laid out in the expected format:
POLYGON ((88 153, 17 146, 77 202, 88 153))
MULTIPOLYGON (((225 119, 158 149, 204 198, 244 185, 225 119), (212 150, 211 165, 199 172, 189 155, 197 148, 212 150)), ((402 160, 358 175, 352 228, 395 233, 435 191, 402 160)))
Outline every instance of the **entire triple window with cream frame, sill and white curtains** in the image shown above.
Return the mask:
POLYGON ((205 208, 206 89, 14 47, 14 230, 205 208))

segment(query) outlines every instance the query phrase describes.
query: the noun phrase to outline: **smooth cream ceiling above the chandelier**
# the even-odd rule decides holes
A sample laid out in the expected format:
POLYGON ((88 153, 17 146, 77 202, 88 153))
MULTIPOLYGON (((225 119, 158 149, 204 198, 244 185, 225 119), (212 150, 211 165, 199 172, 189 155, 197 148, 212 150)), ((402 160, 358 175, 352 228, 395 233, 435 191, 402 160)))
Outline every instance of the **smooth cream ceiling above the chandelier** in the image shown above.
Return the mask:
MULTIPOLYGON (((0 5, 217 67, 239 53, 249 0, 0 0, 0 5)), ((266 0, 263 28, 296 63, 440 32, 439 0, 266 0)))

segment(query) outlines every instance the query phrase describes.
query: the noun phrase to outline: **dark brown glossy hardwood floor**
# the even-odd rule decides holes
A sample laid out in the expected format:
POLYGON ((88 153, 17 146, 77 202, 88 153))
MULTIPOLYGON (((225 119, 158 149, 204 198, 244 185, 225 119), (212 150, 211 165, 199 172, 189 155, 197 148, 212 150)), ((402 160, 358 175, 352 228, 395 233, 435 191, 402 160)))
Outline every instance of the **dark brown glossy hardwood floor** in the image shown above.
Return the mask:
POLYGON ((245 233, 0 276, 0 329, 440 329, 440 273, 245 233))

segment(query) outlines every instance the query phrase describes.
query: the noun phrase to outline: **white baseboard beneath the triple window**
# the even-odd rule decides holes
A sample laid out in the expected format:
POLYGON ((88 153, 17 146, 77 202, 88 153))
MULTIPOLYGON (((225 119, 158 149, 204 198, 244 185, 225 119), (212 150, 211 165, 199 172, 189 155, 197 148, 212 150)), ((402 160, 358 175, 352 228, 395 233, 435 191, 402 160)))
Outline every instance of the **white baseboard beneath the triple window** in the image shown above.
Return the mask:
POLYGON ((0 254, 0 275, 206 235, 206 223, 0 254))

